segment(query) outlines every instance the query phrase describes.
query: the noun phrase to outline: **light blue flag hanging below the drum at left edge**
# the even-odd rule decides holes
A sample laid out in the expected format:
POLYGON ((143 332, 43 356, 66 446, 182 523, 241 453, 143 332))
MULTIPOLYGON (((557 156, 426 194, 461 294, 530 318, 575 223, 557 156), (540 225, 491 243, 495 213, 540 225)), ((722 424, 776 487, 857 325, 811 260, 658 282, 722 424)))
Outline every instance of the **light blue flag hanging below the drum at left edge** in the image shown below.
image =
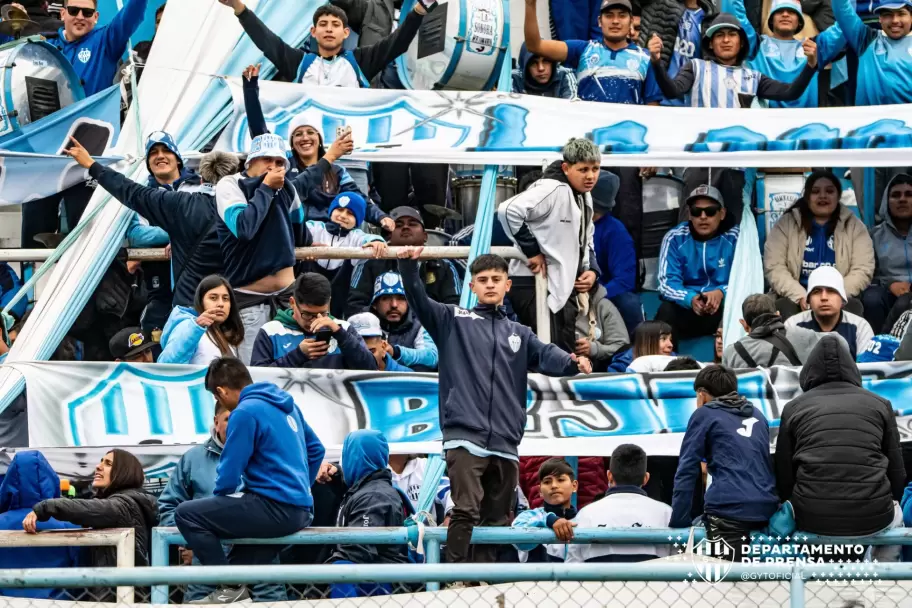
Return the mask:
MULTIPOLYGON (((0 137, 0 205, 27 203, 86 181, 86 170, 63 156, 70 137, 100 157, 119 134, 120 88, 113 86, 0 137)), ((97 160, 111 165, 117 159, 97 160)))

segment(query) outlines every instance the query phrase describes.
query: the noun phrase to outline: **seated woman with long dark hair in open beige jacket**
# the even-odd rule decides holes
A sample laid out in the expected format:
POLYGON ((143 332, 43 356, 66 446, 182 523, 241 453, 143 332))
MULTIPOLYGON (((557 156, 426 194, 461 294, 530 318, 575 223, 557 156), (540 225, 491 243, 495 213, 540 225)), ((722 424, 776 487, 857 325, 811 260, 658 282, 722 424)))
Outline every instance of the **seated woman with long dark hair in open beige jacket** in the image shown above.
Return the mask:
POLYGON ((845 278, 846 310, 863 312, 858 296, 874 276, 874 245, 864 222, 840 202, 841 196, 838 177, 831 171, 814 171, 801 198, 766 238, 764 272, 784 319, 808 310, 808 277, 820 266, 835 266, 845 278))

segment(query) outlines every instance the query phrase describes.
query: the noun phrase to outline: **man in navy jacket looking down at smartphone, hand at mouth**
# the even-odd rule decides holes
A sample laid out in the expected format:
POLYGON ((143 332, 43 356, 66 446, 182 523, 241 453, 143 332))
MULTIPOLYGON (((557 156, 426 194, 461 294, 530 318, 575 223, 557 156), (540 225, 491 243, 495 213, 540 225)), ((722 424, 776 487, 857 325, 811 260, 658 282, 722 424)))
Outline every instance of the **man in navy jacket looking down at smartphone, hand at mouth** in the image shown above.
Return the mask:
POLYGON ((329 314, 332 286, 307 272, 294 283, 289 308, 266 323, 253 344, 256 367, 376 370, 377 361, 347 321, 329 314))

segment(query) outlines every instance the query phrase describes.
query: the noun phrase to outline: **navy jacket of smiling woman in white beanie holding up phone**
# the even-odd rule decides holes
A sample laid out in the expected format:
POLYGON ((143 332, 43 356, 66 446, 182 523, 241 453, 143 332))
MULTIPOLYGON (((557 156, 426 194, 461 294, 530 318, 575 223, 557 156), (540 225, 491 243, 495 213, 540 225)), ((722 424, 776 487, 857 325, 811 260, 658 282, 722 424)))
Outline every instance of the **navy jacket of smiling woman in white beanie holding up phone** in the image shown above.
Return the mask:
MULTIPOLYGON (((244 107, 247 110, 247 128, 250 130, 250 137, 257 137, 264 133, 269 133, 266 125, 266 117, 263 115, 263 106, 260 104, 260 87, 256 78, 244 82, 244 107)), ((291 134, 289 133, 289 136, 291 134)), ((320 145, 322 149, 323 137, 320 136, 320 145)), ((291 142, 289 142, 291 147, 291 142)), ((336 194, 339 192, 358 192, 367 201, 367 213, 364 219, 375 226, 380 225, 380 220, 389 217, 377 206, 366 192, 358 190, 355 180, 352 179, 345 167, 339 164, 330 164, 329 161, 321 158, 316 164, 310 167, 304 167, 298 162, 298 157, 293 153, 288 157, 291 161, 291 167, 288 169, 288 179, 294 184, 298 195, 301 197, 301 204, 304 206, 304 221, 329 221, 329 205, 333 202, 336 194), (338 191, 327 191, 323 186, 324 176, 327 171, 336 174, 336 183, 339 184, 338 191)))

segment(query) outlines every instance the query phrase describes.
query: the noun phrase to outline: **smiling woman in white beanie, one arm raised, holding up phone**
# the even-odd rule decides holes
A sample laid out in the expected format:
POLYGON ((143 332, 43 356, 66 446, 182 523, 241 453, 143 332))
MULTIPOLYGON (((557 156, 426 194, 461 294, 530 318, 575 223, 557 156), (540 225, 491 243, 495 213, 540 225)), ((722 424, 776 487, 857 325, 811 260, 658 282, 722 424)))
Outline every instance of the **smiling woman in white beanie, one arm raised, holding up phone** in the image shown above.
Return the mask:
MULTIPOLYGON (((263 107, 260 104, 260 66, 251 65, 244 70, 244 109, 247 112, 247 127, 250 137, 269 133, 263 107)), ((306 120, 292 120, 288 127, 288 145, 291 148, 291 166, 288 179, 294 183, 301 203, 304 205, 304 220, 329 220, 329 206, 333 198, 342 192, 362 192, 342 163, 338 162, 354 149, 351 132, 337 137, 326 148, 323 134, 316 125, 306 120)), ((382 226, 392 232, 396 225, 373 201, 367 199, 365 219, 375 226, 382 226)))

